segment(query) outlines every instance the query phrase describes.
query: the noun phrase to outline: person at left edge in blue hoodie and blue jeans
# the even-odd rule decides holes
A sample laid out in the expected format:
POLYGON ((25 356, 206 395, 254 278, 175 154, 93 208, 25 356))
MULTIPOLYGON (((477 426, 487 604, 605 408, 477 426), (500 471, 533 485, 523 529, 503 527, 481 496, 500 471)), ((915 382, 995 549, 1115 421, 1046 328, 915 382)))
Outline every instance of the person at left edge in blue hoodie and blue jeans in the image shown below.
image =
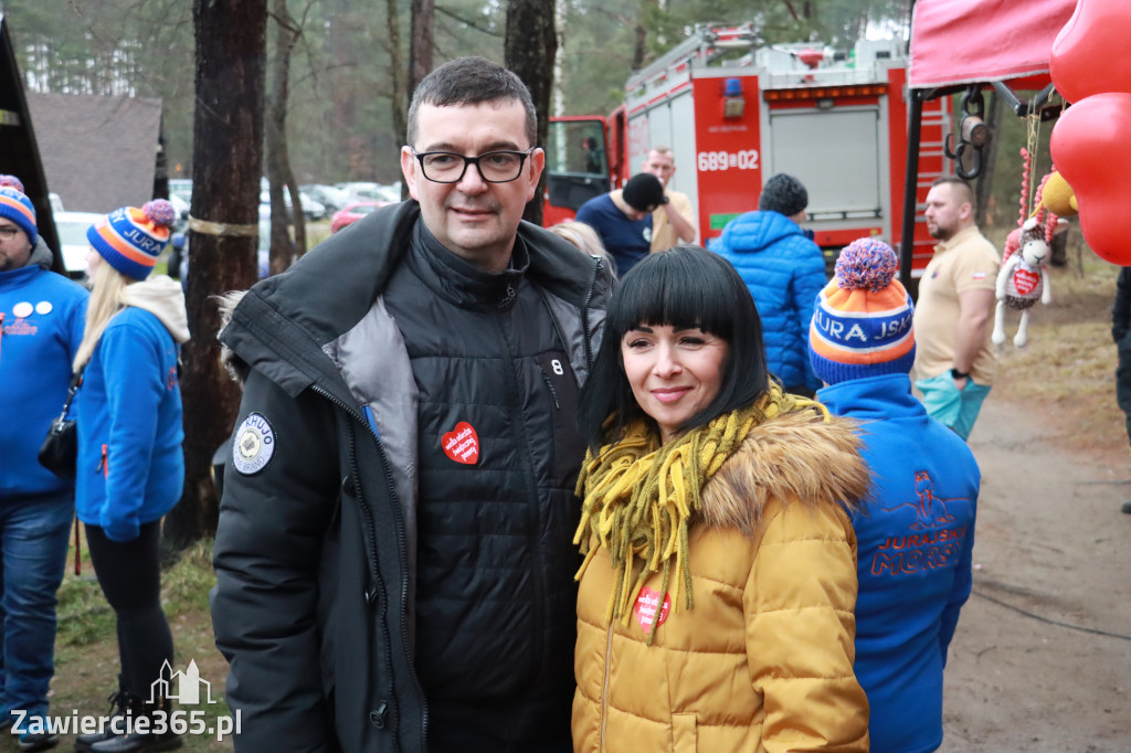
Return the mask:
POLYGON ((0 175, 0 730, 21 722, 23 750, 59 742, 25 728, 48 712, 55 591, 75 519, 74 482, 36 455, 67 397, 87 292, 51 261, 24 184, 0 175))

